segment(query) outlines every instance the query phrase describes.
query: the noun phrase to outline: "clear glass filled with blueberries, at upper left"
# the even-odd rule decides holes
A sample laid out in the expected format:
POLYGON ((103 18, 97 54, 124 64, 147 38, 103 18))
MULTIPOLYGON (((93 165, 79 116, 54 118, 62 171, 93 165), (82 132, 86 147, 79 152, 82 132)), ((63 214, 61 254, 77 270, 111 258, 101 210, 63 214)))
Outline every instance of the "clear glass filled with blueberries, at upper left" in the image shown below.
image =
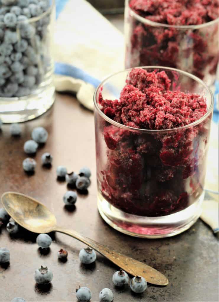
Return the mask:
POLYGON ((33 119, 54 102, 54 0, 0 1, 0 117, 33 119))

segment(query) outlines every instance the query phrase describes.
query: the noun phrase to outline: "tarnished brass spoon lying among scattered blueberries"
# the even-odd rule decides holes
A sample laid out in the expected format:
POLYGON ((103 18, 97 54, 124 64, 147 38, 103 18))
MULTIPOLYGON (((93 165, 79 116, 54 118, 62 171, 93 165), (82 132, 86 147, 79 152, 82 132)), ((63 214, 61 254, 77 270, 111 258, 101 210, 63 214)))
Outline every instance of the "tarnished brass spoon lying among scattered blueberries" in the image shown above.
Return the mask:
POLYGON ((25 229, 34 233, 49 233, 52 231, 64 233, 92 247, 101 255, 124 269, 131 275, 139 275, 151 284, 167 285, 168 279, 149 265, 122 255, 108 247, 89 239, 74 230, 65 230, 56 225, 55 216, 39 201, 16 192, 6 192, 2 195, 2 204, 8 214, 25 229))

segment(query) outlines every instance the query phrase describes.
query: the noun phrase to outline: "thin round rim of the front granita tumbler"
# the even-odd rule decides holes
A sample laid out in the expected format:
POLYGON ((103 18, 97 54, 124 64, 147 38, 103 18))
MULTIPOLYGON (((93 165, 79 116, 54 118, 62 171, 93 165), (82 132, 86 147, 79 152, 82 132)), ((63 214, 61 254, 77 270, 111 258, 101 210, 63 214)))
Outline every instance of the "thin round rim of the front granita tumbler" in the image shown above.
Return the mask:
POLYGON ((180 70, 180 69, 176 69, 176 68, 172 68, 172 67, 165 67, 165 66, 139 66, 139 67, 133 67, 133 68, 128 68, 128 69, 124 69, 124 70, 120 70, 116 73, 111 74, 110 76, 108 76, 106 79, 104 79, 95 89, 94 95, 93 95, 93 102, 94 102, 94 107, 96 108, 96 110, 98 111, 98 113, 100 114, 101 117, 103 117, 104 120, 106 120, 107 122, 109 122, 110 124, 113 124, 116 127, 119 127, 121 129, 124 130, 129 130, 132 132, 141 132, 141 133, 166 133, 166 132, 171 132, 171 131, 178 131, 178 130, 183 130, 183 129, 187 129, 190 127, 194 127, 198 124, 200 124, 203 120, 205 120, 208 115, 211 113, 211 111, 214 108, 214 95, 211 91, 211 89, 208 87, 208 85, 206 85, 201 79, 199 79, 197 76, 192 75, 189 72, 180 70), (143 68, 143 69, 167 69, 169 71, 175 71, 178 72, 180 74, 183 74, 184 76, 187 76, 195 81, 197 81, 199 84, 201 84, 202 86, 204 86, 204 88, 208 91, 208 93, 211 96, 211 104, 208 108, 208 111, 198 120, 194 121, 191 124, 185 125, 185 126, 181 126, 181 127, 177 127, 177 128, 171 128, 171 129, 159 129, 159 130, 154 130, 154 129, 141 129, 141 128, 134 128, 134 127, 130 127, 130 126, 126 126, 123 124, 120 124, 114 120, 112 120, 110 117, 108 117, 106 114, 103 113, 103 111, 100 110, 100 107, 98 106, 98 100, 97 100, 97 92, 99 91, 99 89, 106 84, 106 82, 112 78, 113 76, 118 75, 119 73, 123 73, 123 72, 129 72, 132 69, 136 69, 136 68, 143 68))

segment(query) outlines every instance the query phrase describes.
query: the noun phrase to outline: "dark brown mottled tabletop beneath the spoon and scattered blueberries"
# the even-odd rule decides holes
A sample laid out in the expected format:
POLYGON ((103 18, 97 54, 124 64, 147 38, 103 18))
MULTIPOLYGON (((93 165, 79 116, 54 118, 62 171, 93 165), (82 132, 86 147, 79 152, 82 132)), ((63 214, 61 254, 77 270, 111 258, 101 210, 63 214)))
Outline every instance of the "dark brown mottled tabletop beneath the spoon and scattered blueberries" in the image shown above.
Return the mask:
POLYGON ((167 239, 138 239, 126 236, 108 226, 96 207, 95 141, 93 114, 82 108, 68 95, 57 95, 53 108, 40 118, 21 124, 22 136, 13 138, 9 125, 0 133, 0 194, 18 191, 43 202, 54 212, 57 223, 75 229, 84 235, 125 253, 161 271, 169 279, 167 287, 148 285, 144 294, 132 294, 130 289, 117 289, 112 284, 116 267, 101 255, 94 265, 85 267, 78 259, 83 244, 57 233, 48 255, 42 255, 35 243, 36 235, 21 232, 10 237, 2 229, 0 246, 11 252, 10 266, 0 266, 0 301, 23 297, 30 301, 76 301, 75 288, 87 286, 92 292, 91 302, 99 301, 102 288, 111 288, 115 302, 125 301, 217 301, 218 300, 218 245, 217 238, 201 220, 190 230, 167 239), (46 145, 35 156, 36 172, 28 176, 22 170, 26 155, 23 144, 30 139, 31 130, 43 126, 48 130, 46 145), (41 167, 42 153, 49 151, 54 157, 51 169, 41 167), (57 182, 57 165, 78 171, 88 165, 92 171, 92 184, 88 195, 79 195, 74 211, 65 209, 62 196, 67 190, 65 182, 57 182), (57 251, 67 249, 66 263, 57 260, 57 251), (54 274, 48 291, 35 286, 34 271, 47 265, 54 274))

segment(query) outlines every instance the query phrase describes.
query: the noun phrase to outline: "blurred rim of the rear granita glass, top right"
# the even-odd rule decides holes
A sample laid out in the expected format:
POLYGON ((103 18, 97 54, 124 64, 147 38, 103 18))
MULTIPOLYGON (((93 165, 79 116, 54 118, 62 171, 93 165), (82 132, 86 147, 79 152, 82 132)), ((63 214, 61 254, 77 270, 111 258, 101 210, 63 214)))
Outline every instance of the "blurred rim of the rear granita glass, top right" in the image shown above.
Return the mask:
POLYGON ((196 25, 170 25, 170 24, 151 21, 149 19, 146 19, 146 18, 140 16, 139 14, 136 14, 136 12, 134 12, 132 10, 132 8, 130 8, 129 0, 126 0, 126 7, 128 7, 130 9, 130 11, 132 13, 132 17, 136 18, 141 23, 145 23, 147 25, 151 25, 151 26, 154 26, 154 27, 168 27, 168 28, 176 28, 176 29, 199 29, 199 28, 210 26, 210 25, 212 25, 214 23, 217 23, 217 22, 219 23, 219 17, 218 17, 215 20, 205 22, 205 23, 202 23, 202 24, 196 24, 196 25))

